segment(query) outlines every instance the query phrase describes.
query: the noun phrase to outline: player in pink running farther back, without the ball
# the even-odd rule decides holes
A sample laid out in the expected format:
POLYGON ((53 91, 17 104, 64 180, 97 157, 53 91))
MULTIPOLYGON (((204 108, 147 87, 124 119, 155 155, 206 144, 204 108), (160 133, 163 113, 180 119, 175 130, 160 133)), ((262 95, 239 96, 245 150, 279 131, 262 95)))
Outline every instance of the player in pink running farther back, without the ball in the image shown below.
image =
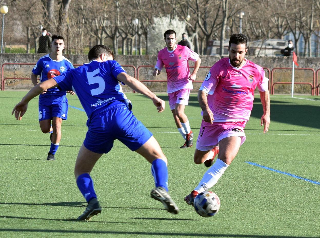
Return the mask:
POLYGON ((192 82, 196 80, 196 73, 200 67, 201 59, 196 52, 188 47, 177 45, 176 40, 177 34, 174 30, 164 32, 164 41, 167 47, 158 53, 153 76, 156 77, 163 66, 165 67, 170 109, 178 131, 186 140, 180 148, 188 148, 193 145, 193 133, 184 109, 188 105, 190 90, 193 89, 192 82), (191 74, 188 60, 195 61, 195 67, 191 74))

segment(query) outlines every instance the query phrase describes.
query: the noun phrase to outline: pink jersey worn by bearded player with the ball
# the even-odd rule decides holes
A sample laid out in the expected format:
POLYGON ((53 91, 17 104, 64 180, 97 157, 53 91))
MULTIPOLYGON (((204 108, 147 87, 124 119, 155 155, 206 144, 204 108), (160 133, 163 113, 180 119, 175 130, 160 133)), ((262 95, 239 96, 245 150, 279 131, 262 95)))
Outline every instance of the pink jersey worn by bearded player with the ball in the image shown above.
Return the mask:
POLYGON ((244 59, 239 67, 230 65, 229 58, 215 63, 199 90, 208 94, 208 106, 214 122, 247 122, 253 106, 254 89, 268 90, 268 78, 261 66, 244 59))

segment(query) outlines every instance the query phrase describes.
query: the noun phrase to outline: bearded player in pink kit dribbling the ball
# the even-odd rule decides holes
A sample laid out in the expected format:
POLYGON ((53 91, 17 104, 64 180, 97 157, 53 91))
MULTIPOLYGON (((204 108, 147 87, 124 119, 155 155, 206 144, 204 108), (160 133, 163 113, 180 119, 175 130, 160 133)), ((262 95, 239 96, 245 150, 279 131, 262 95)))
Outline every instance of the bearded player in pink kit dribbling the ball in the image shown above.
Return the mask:
POLYGON ((189 205, 200 192, 206 191, 218 179, 236 157, 245 141, 244 127, 252 110, 254 89, 258 87, 263 108, 261 126, 267 133, 270 124, 270 97, 268 78, 259 65, 244 58, 247 52, 247 36, 233 34, 230 37, 229 58, 215 63, 199 89, 198 101, 203 120, 197 140, 194 161, 207 167, 219 153, 216 162, 207 170, 198 186, 185 197, 189 205), (219 147, 218 147, 219 146, 219 147))

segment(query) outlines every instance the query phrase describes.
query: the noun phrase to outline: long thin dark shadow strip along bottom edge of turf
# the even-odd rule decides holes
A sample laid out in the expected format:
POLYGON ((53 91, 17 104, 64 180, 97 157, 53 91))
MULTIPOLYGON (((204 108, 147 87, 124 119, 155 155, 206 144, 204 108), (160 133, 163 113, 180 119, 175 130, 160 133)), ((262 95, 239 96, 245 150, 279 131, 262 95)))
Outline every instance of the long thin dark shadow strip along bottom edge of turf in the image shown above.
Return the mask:
MULTIPOLYGON (((89 221, 90 222, 90 221, 89 221)), ((183 236, 183 237, 245 237, 245 238, 319 238, 311 236, 290 236, 290 235, 257 235, 257 234, 205 234, 205 233, 174 233, 174 232, 133 232, 133 231, 97 231, 97 230, 62 230, 62 229, 11 229, 1 228, 6 232, 47 232, 66 234, 113 234, 113 235, 157 235, 157 236, 183 236)))

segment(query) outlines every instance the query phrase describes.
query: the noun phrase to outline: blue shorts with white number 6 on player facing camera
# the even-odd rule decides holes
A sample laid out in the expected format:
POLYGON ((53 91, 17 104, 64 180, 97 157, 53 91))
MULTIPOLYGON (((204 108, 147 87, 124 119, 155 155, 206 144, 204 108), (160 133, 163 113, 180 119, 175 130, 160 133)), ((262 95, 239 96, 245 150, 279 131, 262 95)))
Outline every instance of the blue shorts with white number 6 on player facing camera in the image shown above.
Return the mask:
POLYGON ((39 121, 52 119, 53 117, 68 119, 68 101, 50 106, 40 104, 39 102, 39 121))

